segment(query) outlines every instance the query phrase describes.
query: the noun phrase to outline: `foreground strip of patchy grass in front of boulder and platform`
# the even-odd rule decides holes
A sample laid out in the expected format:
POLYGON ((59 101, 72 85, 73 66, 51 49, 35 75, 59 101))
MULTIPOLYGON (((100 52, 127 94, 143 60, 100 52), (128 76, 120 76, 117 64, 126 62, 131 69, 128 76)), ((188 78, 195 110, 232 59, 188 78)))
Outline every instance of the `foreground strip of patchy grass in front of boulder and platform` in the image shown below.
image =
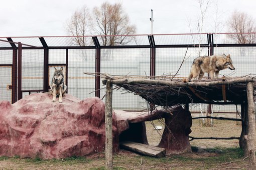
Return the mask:
MULTIPOLYGON (((213 148, 207 149, 208 152, 203 153, 186 153, 182 155, 165 156, 162 158, 155 158, 150 156, 143 156, 134 153, 125 153, 124 155, 114 155, 113 169, 208 169, 208 168, 224 168, 226 162, 232 162, 230 166, 245 168, 246 161, 243 161, 243 150, 240 148, 213 148), (221 150, 221 151, 220 151, 221 150)), ((61 168, 61 169, 86 169, 90 170, 105 170, 105 159, 90 158, 84 156, 71 156, 63 159, 48 159, 43 160, 36 158, 20 158, 19 156, 0 157, 1 161, 13 164, 8 168, 15 169, 33 169, 35 167, 47 168, 61 168), (28 168, 30 167, 30 168, 28 168)), ((1 169, 1 168, 0 168, 1 169)))

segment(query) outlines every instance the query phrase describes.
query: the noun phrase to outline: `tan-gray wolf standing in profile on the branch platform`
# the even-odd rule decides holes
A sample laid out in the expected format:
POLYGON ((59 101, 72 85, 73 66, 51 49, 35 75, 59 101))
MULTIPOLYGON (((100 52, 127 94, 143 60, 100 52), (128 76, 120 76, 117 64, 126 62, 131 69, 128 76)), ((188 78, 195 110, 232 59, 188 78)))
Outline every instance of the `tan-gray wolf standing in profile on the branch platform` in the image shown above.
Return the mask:
POLYGON ((218 77, 219 71, 225 68, 235 69, 230 54, 199 56, 193 61, 188 79, 201 79, 204 73, 210 73, 211 78, 218 77))

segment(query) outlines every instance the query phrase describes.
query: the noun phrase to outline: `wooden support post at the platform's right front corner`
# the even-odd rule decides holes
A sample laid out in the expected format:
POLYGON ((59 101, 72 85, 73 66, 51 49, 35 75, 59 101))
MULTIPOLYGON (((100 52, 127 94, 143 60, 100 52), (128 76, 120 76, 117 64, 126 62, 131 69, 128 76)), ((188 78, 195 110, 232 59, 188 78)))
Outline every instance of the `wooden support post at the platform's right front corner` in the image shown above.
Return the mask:
POLYGON ((248 134, 244 136, 245 140, 247 140, 247 153, 245 153, 249 157, 249 168, 255 169, 255 151, 254 151, 254 131, 255 131, 255 110, 254 110, 254 102, 253 102, 253 82, 247 83, 247 103, 248 103, 248 134))

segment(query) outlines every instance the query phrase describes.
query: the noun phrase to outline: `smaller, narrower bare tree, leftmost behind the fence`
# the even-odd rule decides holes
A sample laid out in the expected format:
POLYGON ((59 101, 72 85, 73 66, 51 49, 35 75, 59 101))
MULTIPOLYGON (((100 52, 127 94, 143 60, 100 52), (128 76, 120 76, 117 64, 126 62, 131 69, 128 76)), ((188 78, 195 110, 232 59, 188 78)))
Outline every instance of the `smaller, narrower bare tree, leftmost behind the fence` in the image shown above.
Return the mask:
POLYGON ((87 6, 83 6, 74 12, 66 24, 68 34, 74 36, 72 43, 85 46, 86 39, 84 36, 90 34, 90 23, 91 16, 87 6))

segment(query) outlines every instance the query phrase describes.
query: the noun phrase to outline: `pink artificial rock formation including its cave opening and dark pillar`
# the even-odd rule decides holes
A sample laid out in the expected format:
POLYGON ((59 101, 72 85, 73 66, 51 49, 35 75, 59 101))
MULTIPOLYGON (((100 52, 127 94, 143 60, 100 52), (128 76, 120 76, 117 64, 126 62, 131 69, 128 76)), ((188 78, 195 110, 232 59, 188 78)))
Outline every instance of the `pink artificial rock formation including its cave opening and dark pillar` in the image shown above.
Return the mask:
MULTIPOLYGON (((80 100, 70 94, 52 102, 48 93, 34 93, 11 104, 0 101, 0 156, 64 158, 103 152, 104 102, 98 97, 80 100)), ((181 107, 170 112, 113 112, 113 152, 119 140, 148 144, 145 121, 165 118, 160 147, 167 154, 191 151, 188 134, 191 114, 181 107), (170 133, 170 130, 171 133, 170 133)))

